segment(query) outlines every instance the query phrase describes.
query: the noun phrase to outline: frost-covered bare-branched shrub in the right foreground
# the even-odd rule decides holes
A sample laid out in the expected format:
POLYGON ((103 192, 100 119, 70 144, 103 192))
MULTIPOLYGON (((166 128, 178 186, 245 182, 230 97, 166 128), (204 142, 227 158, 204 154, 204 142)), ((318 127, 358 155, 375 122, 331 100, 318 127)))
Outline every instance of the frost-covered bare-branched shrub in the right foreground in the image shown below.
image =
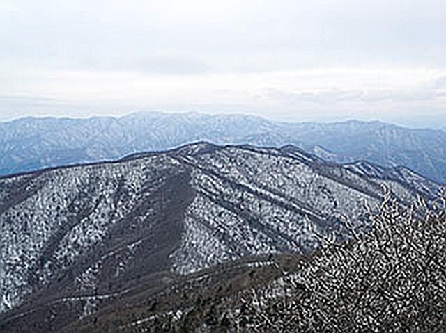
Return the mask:
POLYGON ((367 233, 320 236, 298 270, 245 293, 237 332, 446 332, 445 196, 405 209, 385 195, 367 233))

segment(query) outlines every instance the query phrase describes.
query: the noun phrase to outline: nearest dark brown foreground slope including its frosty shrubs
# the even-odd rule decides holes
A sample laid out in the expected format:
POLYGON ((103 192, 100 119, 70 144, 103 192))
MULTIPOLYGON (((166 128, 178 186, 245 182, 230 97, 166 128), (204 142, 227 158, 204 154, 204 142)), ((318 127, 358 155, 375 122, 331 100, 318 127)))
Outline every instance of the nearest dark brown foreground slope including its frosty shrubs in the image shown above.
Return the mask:
POLYGON ((246 258, 133 291, 60 332, 446 332, 444 197, 403 210, 393 199, 345 243, 321 236, 312 254, 246 258))

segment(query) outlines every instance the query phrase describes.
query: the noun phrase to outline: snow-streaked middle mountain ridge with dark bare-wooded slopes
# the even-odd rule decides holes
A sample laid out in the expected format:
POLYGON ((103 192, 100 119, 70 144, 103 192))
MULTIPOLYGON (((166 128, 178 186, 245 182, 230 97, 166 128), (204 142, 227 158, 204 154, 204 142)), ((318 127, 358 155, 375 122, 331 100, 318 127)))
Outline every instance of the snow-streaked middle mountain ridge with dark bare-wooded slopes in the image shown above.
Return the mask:
POLYGON ((326 163, 291 145, 195 143, 3 177, 0 330, 62 330, 219 263, 254 256, 237 266, 248 274, 268 254, 307 254, 315 232, 364 225, 383 187, 400 207, 440 191, 405 168, 326 163))

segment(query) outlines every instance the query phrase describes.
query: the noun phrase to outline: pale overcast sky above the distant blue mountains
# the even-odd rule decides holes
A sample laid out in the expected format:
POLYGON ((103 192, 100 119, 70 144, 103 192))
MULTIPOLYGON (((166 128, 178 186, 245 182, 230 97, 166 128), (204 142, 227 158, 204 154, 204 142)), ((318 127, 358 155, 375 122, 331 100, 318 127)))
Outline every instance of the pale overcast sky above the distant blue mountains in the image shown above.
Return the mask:
POLYGON ((0 121, 164 110, 439 125, 445 32, 445 0, 0 0, 0 121))

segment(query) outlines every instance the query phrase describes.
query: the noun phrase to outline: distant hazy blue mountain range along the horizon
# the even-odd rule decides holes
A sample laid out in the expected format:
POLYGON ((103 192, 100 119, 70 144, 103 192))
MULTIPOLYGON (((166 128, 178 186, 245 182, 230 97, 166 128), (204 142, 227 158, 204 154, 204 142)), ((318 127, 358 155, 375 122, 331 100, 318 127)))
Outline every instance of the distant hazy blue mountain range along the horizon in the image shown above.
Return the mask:
POLYGON ((0 123, 0 174, 119 159, 201 140, 295 145, 327 161, 402 165, 446 182, 446 133, 382 122, 281 123, 244 115, 134 113, 121 118, 24 118, 0 123))

